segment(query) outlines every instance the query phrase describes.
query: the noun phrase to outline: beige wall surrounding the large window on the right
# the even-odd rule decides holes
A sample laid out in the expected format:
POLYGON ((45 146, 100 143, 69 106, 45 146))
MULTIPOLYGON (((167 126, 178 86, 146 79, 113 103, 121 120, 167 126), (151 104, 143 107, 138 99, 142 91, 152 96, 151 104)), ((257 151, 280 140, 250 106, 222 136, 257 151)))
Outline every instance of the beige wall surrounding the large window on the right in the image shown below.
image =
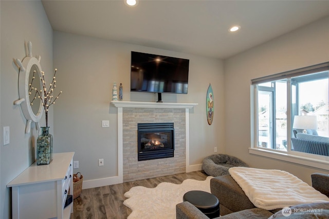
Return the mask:
MULTIPOLYGON (((250 147, 250 80, 329 61, 329 17, 252 48, 225 61, 226 153, 251 167, 288 171, 310 183, 322 169, 248 153, 250 147)), ((329 167, 328 167, 329 169, 329 167)))

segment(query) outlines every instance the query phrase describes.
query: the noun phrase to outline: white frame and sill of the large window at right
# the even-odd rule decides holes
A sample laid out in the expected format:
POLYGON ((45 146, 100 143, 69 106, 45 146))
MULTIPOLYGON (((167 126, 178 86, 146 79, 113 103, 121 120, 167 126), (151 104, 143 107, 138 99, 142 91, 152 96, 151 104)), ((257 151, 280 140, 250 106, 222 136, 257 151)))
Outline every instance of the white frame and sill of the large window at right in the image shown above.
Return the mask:
POLYGON ((250 154, 260 155, 268 158, 283 160, 291 163, 298 163, 309 167, 329 170, 329 156, 321 156, 316 154, 306 154, 297 151, 291 151, 291 102, 293 97, 291 95, 290 78, 301 75, 312 74, 312 72, 320 72, 321 70, 328 70, 329 62, 321 63, 314 66, 300 68, 292 71, 282 72, 280 74, 266 76, 251 80, 250 99, 250 124, 251 124, 251 146, 249 148, 250 154), (287 79, 287 151, 280 151, 269 148, 258 147, 258 89, 257 84, 275 81, 279 79, 287 79))

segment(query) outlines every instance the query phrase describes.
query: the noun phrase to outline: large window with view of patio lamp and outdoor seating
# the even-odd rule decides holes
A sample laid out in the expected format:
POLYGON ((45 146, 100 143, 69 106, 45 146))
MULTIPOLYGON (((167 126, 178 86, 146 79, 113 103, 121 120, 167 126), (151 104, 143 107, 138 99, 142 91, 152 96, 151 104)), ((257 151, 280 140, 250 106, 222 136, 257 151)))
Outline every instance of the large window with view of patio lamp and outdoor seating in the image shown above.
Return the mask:
POLYGON ((251 80, 251 148, 329 161, 328 69, 322 63, 251 80), (298 125, 307 118, 313 126, 298 125))

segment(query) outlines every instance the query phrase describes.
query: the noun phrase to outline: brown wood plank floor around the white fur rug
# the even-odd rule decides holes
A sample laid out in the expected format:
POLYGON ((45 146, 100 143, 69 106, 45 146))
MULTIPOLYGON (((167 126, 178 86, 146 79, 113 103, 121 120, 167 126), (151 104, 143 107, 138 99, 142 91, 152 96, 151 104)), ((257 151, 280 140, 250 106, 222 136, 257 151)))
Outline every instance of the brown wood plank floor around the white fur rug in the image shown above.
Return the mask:
POLYGON ((205 180, 207 174, 203 171, 181 173, 170 176, 161 176, 151 179, 124 182, 111 186, 103 186, 92 189, 83 189, 80 197, 74 199, 74 219, 100 219, 100 218, 127 218, 132 212, 123 205, 126 199, 124 193, 134 186, 155 188, 160 182, 172 182, 181 184, 185 179, 205 180))

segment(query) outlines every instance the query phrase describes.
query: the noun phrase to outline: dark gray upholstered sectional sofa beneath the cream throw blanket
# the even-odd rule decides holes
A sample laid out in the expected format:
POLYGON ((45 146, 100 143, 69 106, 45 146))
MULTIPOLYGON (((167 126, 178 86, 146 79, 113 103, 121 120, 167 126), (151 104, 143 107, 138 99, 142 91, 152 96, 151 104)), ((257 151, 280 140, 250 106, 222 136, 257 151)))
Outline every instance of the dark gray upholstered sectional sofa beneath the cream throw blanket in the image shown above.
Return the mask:
MULTIPOLYGON (((312 174, 312 186, 329 197, 329 175, 322 173, 312 174)), ((220 200, 220 214, 222 219, 240 218, 287 218, 282 215, 281 209, 267 211, 255 207, 245 195, 241 187, 230 175, 214 177, 210 180, 211 193, 220 200)), ((307 218, 329 218, 329 202, 313 203, 292 206, 291 209, 322 209, 321 214, 310 214, 307 218)), ((300 218, 301 215, 291 214, 288 218, 300 218)), ((188 202, 176 205, 177 219, 208 218, 196 207, 188 202)))

